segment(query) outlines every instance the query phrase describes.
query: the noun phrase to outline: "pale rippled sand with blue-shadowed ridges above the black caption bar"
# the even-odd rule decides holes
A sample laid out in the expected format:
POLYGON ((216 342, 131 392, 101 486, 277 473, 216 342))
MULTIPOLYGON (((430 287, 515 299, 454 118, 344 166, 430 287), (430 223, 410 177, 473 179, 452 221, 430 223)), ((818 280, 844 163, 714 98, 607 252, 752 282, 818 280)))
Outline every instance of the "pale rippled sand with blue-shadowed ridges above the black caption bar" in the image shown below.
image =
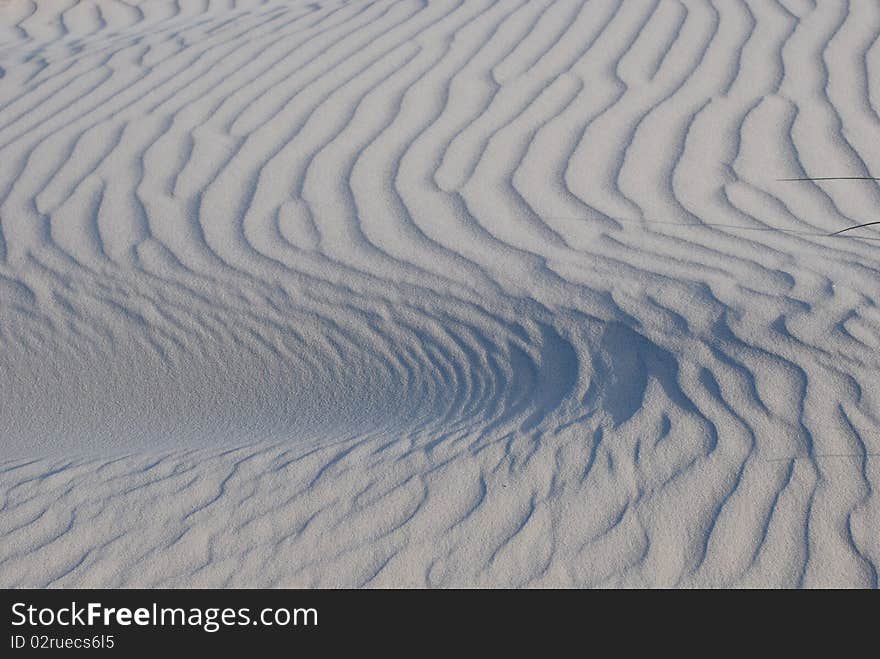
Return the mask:
POLYGON ((0 2, 0 585, 868 586, 880 5, 0 2))

